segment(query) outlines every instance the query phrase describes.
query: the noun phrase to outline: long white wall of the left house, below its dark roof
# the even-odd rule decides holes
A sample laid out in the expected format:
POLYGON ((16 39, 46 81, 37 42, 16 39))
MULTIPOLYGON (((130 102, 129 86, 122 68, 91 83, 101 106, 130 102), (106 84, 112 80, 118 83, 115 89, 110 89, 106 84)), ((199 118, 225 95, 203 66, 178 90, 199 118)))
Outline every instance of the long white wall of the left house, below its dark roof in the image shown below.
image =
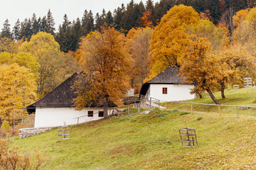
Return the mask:
MULTIPOLYGON (((85 123, 87 121, 99 120, 103 117, 98 117, 98 111, 103 111, 103 108, 85 108, 82 111, 75 111, 75 108, 36 108, 35 128, 39 127, 55 127, 60 125, 75 125, 85 123), (88 117, 88 111, 93 111, 93 117, 88 117)), ((110 114, 110 111, 109 111, 110 114)))

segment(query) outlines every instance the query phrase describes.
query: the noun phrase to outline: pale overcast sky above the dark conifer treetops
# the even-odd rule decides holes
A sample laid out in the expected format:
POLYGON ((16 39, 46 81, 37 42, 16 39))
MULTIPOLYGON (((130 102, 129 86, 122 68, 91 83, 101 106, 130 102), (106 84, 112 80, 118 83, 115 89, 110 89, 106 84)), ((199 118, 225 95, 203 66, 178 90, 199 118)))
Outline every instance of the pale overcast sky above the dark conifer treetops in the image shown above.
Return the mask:
MULTIPOLYGON (((63 16, 67 14, 69 21, 76 18, 82 18, 82 14, 92 10, 93 15, 105 11, 113 12, 115 8, 121 6, 122 3, 126 6, 131 0, 4 0, 1 1, 0 10, 0 28, 3 28, 4 21, 8 18, 11 24, 11 29, 14 27, 19 18, 23 21, 25 18, 32 18, 33 13, 36 13, 37 18, 46 16, 50 9, 55 19, 55 28, 63 23, 63 16)), ((141 0, 134 0, 139 3, 141 0)), ((154 0, 154 3, 159 0, 154 0)), ((145 4, 146 0, 142 0, 145 4)))

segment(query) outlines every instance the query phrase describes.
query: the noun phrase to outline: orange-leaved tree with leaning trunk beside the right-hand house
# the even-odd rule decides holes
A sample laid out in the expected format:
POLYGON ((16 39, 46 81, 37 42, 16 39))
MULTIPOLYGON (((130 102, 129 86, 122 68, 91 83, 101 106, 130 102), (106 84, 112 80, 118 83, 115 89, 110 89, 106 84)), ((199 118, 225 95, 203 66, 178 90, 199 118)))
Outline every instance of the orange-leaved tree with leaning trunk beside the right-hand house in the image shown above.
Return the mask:
POLYGON ((180 75, 186 81, 195 83, 191 93, 207 91, 215 104, 219 104, 211 88, 218 83, 218 62, 216 56, 209 53, 210 42, 206 38, 196 38, 183 53, 180 75))

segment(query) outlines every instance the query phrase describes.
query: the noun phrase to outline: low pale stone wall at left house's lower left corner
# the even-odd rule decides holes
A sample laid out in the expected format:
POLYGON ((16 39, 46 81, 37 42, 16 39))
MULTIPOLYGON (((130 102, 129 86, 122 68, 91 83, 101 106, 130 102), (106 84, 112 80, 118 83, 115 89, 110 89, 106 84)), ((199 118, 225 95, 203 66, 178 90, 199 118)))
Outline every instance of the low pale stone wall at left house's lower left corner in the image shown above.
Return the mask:
POLYGON ((48 130, 53 129, 54 127, 47 127, 47 128, 23 128, 18 130, 18 137, 24 138, 24 137, 29 137, 33 135, 38 135, 41 132, 46 132, 48 130))

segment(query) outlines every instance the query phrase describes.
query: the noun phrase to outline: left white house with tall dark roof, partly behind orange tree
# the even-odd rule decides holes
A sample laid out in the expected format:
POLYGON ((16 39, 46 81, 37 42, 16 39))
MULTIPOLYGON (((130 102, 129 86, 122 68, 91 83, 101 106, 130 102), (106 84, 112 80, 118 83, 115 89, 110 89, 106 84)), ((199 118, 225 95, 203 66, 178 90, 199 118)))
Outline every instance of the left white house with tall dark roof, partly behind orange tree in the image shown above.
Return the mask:
MULTIPOLYGON (((72 86, 76 76, 77 74, 73 74, 41 100, 27 107, 28 113, 36 113, 35 128, 74 125, 81 116, 79 123, 103 118, 103 107, 98 107, 96 103, 91 103, 82 111, 75 111, 74 99, 78 94, 72 86)), ((114 103, 109 103, 110 108, 115 106, 114 103)))

